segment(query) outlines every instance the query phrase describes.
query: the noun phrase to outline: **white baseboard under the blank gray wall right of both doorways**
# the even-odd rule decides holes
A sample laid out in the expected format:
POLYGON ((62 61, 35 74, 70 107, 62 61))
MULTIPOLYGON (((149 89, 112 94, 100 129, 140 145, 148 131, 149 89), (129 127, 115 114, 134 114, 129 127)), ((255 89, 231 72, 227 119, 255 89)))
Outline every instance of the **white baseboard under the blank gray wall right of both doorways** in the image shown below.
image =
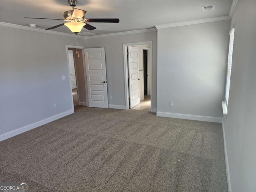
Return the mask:
POLYGON ((178 114, 178 113, 169 113, 169 112, 156 112, 156 116, 222 123, 222 118, 220 117, 178 114))

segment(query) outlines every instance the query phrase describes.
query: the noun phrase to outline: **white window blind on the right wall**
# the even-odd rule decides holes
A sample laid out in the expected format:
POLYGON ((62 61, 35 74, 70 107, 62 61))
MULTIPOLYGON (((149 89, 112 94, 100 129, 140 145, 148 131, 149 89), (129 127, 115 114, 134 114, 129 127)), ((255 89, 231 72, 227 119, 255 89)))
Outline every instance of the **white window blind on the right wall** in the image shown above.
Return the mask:
POLYGON ((229 51, 228 51, 228 70, 227 70, 226 94, 225 94, 227 105, 228 105, 229 90, 230 90, 230 77, 231 77, 231 68, 232 68, 234 34, 235 34, 235 29, 233 28, 230 32, 229 51))

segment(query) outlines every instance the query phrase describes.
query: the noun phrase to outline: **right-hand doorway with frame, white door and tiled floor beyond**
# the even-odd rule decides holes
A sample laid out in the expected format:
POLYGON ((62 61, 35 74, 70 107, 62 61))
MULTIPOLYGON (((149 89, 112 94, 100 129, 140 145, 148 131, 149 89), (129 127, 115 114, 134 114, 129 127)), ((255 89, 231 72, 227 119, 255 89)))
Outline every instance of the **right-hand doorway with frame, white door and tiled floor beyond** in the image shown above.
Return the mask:
POLYGON ((152 42, 123 44, 123 48, 126 109, 152 111, 152 42))

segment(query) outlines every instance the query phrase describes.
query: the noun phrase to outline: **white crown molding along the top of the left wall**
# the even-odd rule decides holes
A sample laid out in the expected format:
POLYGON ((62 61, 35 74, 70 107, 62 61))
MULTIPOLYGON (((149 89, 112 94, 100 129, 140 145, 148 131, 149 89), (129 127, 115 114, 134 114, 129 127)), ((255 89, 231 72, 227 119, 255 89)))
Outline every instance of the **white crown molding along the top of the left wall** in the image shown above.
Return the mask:
POLYGON ((27 31, 40 32, 40 33, 61 35, 61 36, 66 36, 66 37, 73 37, 73 38, 76 37, 76 38, 85 39, 85 36, 62 33, 62 32, 51 31, 51 30, 44 30, 44 29, 40 29, 40 28, 32 28, 32 27, 28 27, 28 26, 16 25, 16 24, 11 24, 11 23, 0 22, 0 26, 14 28, 14 29, 27 30, 27 31))

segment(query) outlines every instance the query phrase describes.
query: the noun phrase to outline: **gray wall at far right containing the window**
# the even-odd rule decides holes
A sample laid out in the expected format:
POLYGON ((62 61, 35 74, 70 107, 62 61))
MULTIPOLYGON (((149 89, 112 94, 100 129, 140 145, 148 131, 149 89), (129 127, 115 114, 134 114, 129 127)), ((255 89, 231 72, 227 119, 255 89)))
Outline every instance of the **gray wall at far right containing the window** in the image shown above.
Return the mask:
MULTIPOLYGON (((256 1, 239 0, 224 130, 232 192, 256 191, 256 1)), ((224 98, 223 98, 224 99, 224 98)))

